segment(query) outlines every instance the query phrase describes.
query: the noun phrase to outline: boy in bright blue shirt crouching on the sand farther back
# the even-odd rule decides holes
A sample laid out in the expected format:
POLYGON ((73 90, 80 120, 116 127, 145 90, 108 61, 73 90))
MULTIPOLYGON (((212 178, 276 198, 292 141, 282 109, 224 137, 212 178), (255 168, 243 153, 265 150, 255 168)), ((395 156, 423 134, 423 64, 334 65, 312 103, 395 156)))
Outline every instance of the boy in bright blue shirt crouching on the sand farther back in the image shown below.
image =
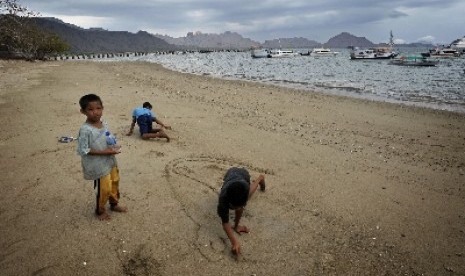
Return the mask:
POLYGON ((152 111, 152 105, 149 102, 143 103, 142 107, 137 107, 132 112, 132 123, 127 134, 128 136, 132 135, 136 122, 139 125, 139 131, 142 139, 166 138, 167 142, 170 141, 170 137, 168 137, 163 129, 171 129, 171 127, 163 124, 162 121, 157 119, 152 111), (159 124, 161 128, 153 128, 152 122, 159 124))

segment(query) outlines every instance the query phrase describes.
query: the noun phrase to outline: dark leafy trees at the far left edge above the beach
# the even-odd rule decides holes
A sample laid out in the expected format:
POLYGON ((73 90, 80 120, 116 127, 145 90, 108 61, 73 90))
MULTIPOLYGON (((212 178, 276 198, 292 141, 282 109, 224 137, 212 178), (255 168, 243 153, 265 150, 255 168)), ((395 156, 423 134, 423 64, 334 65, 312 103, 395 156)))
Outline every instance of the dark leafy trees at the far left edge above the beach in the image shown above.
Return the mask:
POLYGON ((69 50, 58 35, 35 24, 38 15, 17 0, 0 0, 0 58, 44 60, 69 50))

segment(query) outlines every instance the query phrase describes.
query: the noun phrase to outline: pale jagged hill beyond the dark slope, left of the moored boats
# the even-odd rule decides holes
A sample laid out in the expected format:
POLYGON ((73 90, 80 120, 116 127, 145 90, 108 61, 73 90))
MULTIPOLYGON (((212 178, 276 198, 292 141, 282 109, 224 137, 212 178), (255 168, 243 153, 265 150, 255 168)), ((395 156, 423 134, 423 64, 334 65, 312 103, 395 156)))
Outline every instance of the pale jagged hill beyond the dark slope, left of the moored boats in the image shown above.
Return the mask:
POLYGON ((185 37, 173 38, 167 35, 155 34, 166 42, 184 49, 235 49, 244 50, 260 46, 259 42, 244 38, 238 33, 224 32, 222 34, 204 34, 189 32, 185 37))

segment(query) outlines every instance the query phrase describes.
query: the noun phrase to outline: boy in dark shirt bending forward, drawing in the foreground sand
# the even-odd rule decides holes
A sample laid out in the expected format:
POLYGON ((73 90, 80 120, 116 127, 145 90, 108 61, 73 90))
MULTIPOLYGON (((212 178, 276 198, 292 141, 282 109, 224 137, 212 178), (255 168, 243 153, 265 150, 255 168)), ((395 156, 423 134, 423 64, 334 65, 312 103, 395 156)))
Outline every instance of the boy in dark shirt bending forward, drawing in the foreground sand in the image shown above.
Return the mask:
POLYGON ((221 218, 223 230, 231 241, 231 251, 235 255, 241 253, 241 246, 234 236, 233 230, 238 234, 249 232, 249 229, 239 225, 239 222, 247 201, 252 197, 259 185, 260 190, 265 191, 265 176, 261 174, 250 183, 250 174, 244 168, 232 167, 228 169, 223 178, 217 212, 221 218), (229 209, 235 211, 233 227, 229 224, 229 209))

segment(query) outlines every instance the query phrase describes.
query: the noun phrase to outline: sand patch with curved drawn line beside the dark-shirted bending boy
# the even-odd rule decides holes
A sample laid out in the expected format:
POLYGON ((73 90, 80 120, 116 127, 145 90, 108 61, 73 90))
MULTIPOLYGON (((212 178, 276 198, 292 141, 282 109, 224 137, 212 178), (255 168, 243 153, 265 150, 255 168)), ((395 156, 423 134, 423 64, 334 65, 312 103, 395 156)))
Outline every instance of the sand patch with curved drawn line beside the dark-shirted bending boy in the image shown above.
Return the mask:
MULTIPOLYGON (((221 260, 230 250, 229 240, 220 227, 216 209, 223 176, 231 167, 244 167, 252 177, 259 173, 274 175, 269 169, 209 156, 178 158, 165 166, 164 176, 174 198, 196 225, 193 247, 210 262, 221 260)), ((242 260, 252 261, 246 260, 244 256, 242 260)))

